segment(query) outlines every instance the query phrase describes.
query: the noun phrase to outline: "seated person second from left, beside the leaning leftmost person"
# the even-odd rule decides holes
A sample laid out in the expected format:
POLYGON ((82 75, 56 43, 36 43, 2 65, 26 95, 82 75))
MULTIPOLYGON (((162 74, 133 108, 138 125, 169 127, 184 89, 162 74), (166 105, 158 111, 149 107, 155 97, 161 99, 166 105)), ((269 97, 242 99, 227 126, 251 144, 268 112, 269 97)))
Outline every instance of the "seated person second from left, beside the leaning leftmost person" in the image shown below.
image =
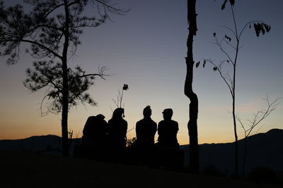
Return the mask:
POLYGON ((126 146, 127 121, 122 118, 124 108, 116 108, 108 121, 109 141, 112 149, 123 149, 126 146))

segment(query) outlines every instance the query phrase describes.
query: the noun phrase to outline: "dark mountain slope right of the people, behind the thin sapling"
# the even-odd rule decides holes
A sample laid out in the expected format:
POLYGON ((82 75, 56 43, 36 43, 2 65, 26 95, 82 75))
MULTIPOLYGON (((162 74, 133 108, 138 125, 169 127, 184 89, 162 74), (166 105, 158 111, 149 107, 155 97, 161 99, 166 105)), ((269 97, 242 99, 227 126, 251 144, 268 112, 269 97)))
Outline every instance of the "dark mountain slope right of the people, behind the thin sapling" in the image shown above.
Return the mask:
MULTIPOLYGON (((283 172, 283 130, 270 130, 266 133, 255 134, 248 137, 248 156, 246 161, 246 172, 253 168, 272 168, 283 172)), ((238 142, 239 146, 239 170, 243 164, 244 140, 238 142)), ((188 156, 187 146, 181 146, 188 156)), ((222 172, 233 172, 233 143, 226 144, 201 144, 200 145, 200 167, 206 168, 213 165, 222 172)), ((185 157, 186 158, 186 157, 185 157)), ((187 159, 187 158, 186 158, 187 159)), ((187 164, 187 160, 186 160, 187 164)), ((240 171, 241 172, 241 171, 240 171)))

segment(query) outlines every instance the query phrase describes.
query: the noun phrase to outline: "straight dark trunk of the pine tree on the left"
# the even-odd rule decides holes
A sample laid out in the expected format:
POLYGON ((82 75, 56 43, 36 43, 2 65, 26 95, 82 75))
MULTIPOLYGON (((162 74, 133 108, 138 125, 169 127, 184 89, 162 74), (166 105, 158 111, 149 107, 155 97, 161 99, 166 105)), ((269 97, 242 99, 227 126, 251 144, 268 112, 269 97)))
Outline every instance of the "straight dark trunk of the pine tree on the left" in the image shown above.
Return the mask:
POLYGON ((64 0, 65 8, 65 28, 64 28, 64 48, 62 53, 62 70, 63 70, 63 91, 62 91, 62 154, 69 156, 69 140, 68 140, 68 111, 69 111, 69 88, 68 88, 68 66, 67 54, 69 47, 69 8, 67 0, 64 0))

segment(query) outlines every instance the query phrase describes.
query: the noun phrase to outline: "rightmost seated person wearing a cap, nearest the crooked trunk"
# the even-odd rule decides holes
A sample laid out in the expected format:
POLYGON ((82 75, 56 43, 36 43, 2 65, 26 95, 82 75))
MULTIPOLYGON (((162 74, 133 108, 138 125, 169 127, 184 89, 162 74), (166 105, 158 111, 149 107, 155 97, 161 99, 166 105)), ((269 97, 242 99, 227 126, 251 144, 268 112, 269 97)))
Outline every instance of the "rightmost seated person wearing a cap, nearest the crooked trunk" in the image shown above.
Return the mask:
POLYGON ((172 115, 173 110, 166 108, 163 111, 164 120, 158 123, 158 146, 161 149, 178 149, 179 147, 177 140, 178 123, 171 120, 172 115))

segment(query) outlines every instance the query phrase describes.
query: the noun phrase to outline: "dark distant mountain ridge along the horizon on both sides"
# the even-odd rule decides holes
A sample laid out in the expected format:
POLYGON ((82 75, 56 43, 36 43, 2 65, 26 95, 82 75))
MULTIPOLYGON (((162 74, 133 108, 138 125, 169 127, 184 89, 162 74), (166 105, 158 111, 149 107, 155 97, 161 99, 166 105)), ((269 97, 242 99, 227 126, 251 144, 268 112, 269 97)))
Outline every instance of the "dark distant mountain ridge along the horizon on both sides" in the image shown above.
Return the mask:
MULTIPOLYGON (((80 139, 71 142, 70 153, 73 153, 74 144, 80 139)), ((238 141, 239 172, 243 164, 243 139, 238 141)), ((61 155, 61 137, 56 135, 33 136, 26 139, 0 140, 0 150, 43 152, 61 155)), ((185 165, 188 165, 188 145, 180 146, 185 152, 185 165)), ((214 166, 226 173, 233 173, 234 144, 200 144, 200 169, 214 166)), ((259 133, 248 137, 248 156, 246 172, 253 168, 265 167, 283 172, 283 130, 273 129, 266 133, 259 133)))

